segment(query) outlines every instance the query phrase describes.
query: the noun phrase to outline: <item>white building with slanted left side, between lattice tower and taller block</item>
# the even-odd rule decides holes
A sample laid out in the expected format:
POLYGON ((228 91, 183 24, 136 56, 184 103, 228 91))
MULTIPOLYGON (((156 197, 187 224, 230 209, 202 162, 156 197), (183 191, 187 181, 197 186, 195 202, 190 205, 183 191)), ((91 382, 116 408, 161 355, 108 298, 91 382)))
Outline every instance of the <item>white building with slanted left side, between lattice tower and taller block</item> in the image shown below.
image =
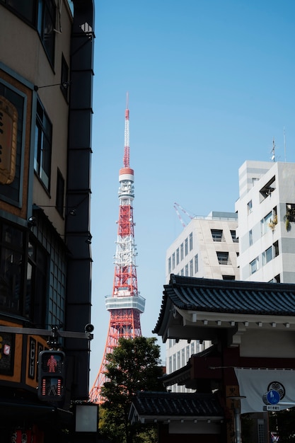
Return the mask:
MULTIPOLYGON (((219 280, 239 280, 238 216, 233 212, 211 212, 207 217, 194 217, 166 252, 166 282, 170 274, 219 280)), ((175 372, 187 364, 192 354, 208 347, 208 343, 169 339, 166 343, 166 370, 175 372)), ((187 391, 172 386, 174 392, 187 391)))

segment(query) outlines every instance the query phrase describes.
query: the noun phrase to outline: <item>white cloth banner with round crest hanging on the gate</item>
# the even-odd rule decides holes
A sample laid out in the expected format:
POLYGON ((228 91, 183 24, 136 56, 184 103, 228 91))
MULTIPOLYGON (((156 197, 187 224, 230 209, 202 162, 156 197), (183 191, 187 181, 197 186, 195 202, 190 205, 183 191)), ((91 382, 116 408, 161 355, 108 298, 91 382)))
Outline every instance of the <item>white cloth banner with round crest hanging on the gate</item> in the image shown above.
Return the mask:
POLYGON ((235 368, 241 414, 295 406, 295 370, 235 368))

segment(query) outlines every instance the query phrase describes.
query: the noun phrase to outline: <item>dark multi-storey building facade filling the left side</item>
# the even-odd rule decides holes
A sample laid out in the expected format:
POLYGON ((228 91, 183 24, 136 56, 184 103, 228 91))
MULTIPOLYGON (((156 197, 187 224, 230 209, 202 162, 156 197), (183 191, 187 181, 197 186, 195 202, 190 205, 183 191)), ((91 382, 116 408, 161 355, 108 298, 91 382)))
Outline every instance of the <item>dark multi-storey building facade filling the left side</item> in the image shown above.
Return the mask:
POLYGON ((93 25, 93 0, 0 0, 1 442, 59 441, 88 400, 93 25), (58 403, 37 399, 52 346, 58 403))

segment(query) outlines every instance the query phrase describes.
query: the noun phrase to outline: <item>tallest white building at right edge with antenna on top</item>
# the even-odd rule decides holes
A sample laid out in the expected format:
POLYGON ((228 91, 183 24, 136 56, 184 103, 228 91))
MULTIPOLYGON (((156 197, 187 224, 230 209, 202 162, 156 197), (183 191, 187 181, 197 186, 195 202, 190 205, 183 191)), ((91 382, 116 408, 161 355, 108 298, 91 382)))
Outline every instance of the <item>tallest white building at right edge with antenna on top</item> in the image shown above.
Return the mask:
POLYGON ((245 161, 236 202, 240 280, 295 282, 295 163, 245 161))

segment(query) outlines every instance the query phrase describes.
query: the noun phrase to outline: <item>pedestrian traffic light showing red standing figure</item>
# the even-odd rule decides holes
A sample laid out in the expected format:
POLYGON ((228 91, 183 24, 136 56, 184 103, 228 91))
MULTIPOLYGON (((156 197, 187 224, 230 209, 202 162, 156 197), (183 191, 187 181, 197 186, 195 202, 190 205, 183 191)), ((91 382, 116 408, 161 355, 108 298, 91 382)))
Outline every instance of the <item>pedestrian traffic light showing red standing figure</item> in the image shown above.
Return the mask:
POLYGON ((38 398, 62 401, 65 393, 65 362, 62 351, 41 351, 38 360, 38 398))

